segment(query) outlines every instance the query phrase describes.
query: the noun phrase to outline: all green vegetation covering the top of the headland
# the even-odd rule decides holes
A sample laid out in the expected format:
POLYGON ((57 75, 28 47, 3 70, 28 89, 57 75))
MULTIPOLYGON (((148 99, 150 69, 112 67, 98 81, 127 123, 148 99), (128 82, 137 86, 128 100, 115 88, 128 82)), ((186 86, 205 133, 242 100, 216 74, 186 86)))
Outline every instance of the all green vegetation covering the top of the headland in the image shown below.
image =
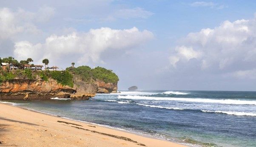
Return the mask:
POLYGON ((119 81, 118 76, 112 71, 102 67, 90 68, 89 66, 79 66, 77 68, 74 67, 75 63, 71 63, 71 67, 66 68, 65 71, 50 71, 46 68, 49 60, 44 59, 43 63, 45 64, 45 71, 41 70, 32 70, 31 68, 34 66, 33 59, 28 58, 27 60, 21 60, 18 62, 13 57, 0 58, 0 63, 6 62, 11 65, 13 68, 11 69, 7 67, 6 69, 2 69, 0 67, 0 83, 6 82, 12 79, 31 79, 31 80, 43 80, 48 81, 49 78, 56 80, 58 83, 62 85, 68 85, 70 87, 74 86, 73 75, 76 77, 80 77, 82 81, 86 83, 93 83, 97 80, 103 81, 105 83, 115 83, 119 81), (25 66, 24 65, 28 65, 25 66), (16 68, 14 68, 16 67, 16 68), (15 69, 15 70, 14 70, 15 69))

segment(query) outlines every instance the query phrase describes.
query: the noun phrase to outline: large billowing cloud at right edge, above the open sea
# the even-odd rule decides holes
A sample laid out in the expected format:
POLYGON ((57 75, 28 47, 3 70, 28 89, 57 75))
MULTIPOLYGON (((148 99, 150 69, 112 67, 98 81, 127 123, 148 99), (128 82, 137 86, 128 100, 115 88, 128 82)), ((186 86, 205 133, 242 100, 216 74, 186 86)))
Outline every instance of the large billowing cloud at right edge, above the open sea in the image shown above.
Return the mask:
POLYGON ((189 33, 179 44, 169 57, 174 67, 196 59, 202 70, 250 76, 256 62, 256 18, 226 20, 216 28, 189 33))

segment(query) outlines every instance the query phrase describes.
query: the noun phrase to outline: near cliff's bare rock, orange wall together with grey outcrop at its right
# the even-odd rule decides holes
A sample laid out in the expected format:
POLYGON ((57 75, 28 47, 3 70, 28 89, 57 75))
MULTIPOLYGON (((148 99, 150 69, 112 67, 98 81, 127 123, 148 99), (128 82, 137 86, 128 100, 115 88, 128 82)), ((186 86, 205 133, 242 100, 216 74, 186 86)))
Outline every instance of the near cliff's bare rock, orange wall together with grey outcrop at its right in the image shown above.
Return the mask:
POLYGON ((63 86, 54 79, 30 80, 12 79, 0 84, 0 100, 4 99, 51 99, 71 98, 89 99, 95 96, 98 88, 96 84, 84 84, 74 79, 74 87, 63 86))

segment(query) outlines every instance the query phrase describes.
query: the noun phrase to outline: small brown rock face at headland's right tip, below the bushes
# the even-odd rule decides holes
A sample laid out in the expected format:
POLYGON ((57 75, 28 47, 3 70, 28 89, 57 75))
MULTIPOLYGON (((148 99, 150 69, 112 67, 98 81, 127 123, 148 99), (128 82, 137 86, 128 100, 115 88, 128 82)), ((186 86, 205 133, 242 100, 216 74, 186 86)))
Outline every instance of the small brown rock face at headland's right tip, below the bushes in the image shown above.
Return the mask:
POLYGON ((117 93, 117 83, 105 83, 103 81, 96 81, 98 86, 97 93, 117 93))

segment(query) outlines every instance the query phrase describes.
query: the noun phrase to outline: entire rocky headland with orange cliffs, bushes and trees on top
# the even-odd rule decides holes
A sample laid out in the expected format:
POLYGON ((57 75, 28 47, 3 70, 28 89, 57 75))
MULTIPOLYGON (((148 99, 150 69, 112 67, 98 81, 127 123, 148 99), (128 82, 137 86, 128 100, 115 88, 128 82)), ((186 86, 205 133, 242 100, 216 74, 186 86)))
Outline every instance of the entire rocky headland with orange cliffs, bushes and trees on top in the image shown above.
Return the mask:
POLYGON ((25 60, 17 62, 14 58, 0 58, 0 100, 55 97, 84 100, 96 93, 117 92, 119 79, 111 70, 89 66, 75 68, 72 64, 63 71, 57 71, 57 67, 55 71, 49 68, 43 71, 33 69, 35 65, 28 64, 29 60, 23 65, 25 60))

